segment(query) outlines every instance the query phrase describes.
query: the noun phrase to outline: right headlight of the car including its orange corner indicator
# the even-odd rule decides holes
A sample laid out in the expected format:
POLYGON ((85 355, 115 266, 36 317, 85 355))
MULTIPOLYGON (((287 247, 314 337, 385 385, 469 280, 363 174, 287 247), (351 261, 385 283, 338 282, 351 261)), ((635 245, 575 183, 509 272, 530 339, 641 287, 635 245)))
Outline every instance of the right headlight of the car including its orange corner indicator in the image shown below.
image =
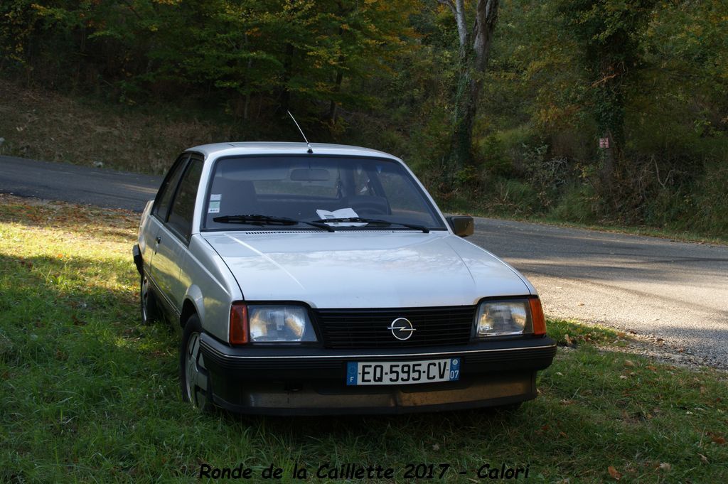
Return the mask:
POLYGON ((511 301, 483 301, 475 319, 475 336, 513 336, 545 333, 541 302, 538 298, 511 301), (534 325, 534 322, 536 323, 534 325))

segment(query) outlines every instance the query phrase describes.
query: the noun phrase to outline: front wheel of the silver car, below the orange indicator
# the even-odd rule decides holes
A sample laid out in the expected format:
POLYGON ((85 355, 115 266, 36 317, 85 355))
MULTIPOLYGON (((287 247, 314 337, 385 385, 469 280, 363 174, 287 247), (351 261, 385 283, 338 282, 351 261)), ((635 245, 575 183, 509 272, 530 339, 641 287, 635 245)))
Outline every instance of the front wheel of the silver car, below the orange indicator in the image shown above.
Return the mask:
POLYGON ((212 410, 210 379, 205 368, 205 360, 199 351, 199 336, 202 325, 197 314, 189 317, 180 344, 180 384, 182 400, 191 402, 202 411, 212 410))

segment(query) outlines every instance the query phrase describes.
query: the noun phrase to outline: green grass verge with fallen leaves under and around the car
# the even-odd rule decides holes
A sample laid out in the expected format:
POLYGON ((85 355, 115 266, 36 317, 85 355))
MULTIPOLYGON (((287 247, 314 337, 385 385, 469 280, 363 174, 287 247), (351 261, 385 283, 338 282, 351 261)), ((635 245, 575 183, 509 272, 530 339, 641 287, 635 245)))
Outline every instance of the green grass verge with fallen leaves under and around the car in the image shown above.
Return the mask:
POLYGON ((563 321, 549 331, 571 345, 515 413, 200 415, 179 396, 175 333, 138 322, 137 218, 0 196, 0 482, 197 482, 202 463, 288 475, 326 462, 394 467, 397 482, 408 463, 470 472, 434 482, 480 482, 485 463, 528 465, 527 482, 601 483, 610 466, 620 482, 728 480, 725 373, 612 352, 624 335, 563 321))

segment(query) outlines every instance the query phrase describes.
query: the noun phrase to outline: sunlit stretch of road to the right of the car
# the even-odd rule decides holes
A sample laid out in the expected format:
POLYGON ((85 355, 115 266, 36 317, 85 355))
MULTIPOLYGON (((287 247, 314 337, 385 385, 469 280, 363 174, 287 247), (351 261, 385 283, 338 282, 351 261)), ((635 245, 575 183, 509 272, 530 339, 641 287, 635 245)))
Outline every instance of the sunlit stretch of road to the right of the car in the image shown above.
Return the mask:
POLYGON ((488 218, 470 240, 528 277, 550 317, 728 368, 728 247, 488 218))

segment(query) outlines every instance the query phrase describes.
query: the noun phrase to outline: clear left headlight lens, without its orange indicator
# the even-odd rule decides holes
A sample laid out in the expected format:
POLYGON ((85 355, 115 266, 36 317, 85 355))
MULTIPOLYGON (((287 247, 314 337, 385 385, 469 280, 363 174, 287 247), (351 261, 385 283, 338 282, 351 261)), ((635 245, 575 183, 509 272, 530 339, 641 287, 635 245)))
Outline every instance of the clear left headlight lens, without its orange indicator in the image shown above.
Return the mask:
POLYGON ((304 306, 248 306, 248 328, 253 343, 316 341, 304 306))

